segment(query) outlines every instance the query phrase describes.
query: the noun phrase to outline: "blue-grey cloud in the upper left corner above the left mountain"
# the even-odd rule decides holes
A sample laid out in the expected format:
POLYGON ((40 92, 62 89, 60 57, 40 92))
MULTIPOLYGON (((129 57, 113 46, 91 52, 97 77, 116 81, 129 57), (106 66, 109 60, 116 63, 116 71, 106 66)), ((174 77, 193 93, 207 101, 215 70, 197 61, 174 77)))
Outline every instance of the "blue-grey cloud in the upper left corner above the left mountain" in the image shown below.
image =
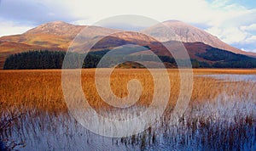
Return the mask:
POLYGON ((5 20, 19 20, 23 24, 35 25, 55 20, 74 20, 65 8, 32 0, 3 0, 0 5, 0 16, 5 20))

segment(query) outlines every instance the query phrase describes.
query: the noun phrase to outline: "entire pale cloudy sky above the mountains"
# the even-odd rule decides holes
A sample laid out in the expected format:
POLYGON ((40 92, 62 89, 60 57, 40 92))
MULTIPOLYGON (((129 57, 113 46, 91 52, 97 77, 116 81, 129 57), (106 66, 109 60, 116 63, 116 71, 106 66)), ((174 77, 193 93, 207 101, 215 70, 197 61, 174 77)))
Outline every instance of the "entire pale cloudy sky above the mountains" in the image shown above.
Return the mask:
POLYGON ((231 46, 256 53, 254 0, 0 0, 0 36, 20 34, 55 20, 93 25, 120 14, 160 22, 181 20, 231 46))

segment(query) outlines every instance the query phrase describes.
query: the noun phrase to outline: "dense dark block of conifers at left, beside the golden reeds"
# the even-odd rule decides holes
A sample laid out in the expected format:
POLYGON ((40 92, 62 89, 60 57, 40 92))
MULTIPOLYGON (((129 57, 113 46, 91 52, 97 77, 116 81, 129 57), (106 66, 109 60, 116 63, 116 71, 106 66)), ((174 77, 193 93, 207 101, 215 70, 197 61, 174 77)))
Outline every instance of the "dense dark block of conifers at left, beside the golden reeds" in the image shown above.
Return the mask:
MULTIPOLYGON (((4 70, 33 70, 33 69, 61 69, 66 52, 63 51, 29 51, 10 55, 3 65, 4 70)), ((82 55, 79 53, 68 53, 73 55, 73 67, 79 67, 82 55)), ((101 55, 88 54, 82 68, 96 68, 101 55), (85 61, 86 60, 86 61, 85 61), (86 62, 86 64, 85 64, 86 62)), ((72 68, 72 67, 71 67, 72 68)))

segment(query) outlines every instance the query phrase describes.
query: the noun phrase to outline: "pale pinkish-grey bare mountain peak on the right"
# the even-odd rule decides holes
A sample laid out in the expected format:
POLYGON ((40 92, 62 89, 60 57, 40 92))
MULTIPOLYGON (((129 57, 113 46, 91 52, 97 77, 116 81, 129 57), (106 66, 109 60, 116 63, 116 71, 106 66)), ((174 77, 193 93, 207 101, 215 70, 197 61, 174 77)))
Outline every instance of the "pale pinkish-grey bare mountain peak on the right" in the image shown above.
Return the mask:
POLYGON ((195 26, 185 24, 182 21, 169 20, 163 22, 162 24, 169 27, 176 36, 173 36, 172 34, 167 35, 167 33, 164 32, 166 29, 162 25, 154 25, 148 29, 145 29, 144 31, 158 37, 161 42, 165 42, 167 37, 168 40, 172 39, 179 42, 203 42, 209 46, 212 46, 213 48, 220 48, 233 53, 255 55, 254 53, 248 53, 238 48, 233 48, 227 43, 219 40, 217 36, 212 36, 211 34, 207 33, 207 31, 203 31, 195 26))

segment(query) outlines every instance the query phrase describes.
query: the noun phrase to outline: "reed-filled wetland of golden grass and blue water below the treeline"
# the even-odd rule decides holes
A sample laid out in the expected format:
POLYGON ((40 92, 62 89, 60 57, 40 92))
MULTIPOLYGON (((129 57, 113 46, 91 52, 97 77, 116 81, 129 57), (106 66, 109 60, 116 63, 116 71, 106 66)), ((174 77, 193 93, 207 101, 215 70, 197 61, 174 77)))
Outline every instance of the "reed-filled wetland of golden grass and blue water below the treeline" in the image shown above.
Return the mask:
MULTIPOLYGON (((91 107, 97 111, 111 110, 112 107, 103 102, 97 93, 95 71, 82 70, 81 83, 84 94, 91 107)), ((195 141, 198 145, 195 149, 256 148, 253 146, 256 140, 256 120, 255 114, 252 114, 256 104, 256 95, 252 92, 256 88, 255 84, 252 81, 222 81, 211 76, 203 76, 255 75, 256 70, 193 70, 194 84, 189 109, 184 113, 180 124, 175 127, 169 125, 168 116, 177 101, 180 76, 178 70, 168 70, 168 73, 171 96, 163 120, 136 136, 110 139, 112 143, 125 146, 130 144, 134 149, 137 149, 137 146, 140 149, 153 148, 156 144, 163 144, 161 140, 174 145, 180 145, 182 142, 183 147, 189 147, 195 141)), ((136 105, 147 107, 154 94, 154 82, 148 70, 114 70, 110 78, 113 93, 120 98, 127 96, 127 82, 132 79, 141 81, 143 86, 142 96, 136 105)), ((61 70, 0 70, 0 94, 0 138, 7 142, 6 145, 10 148, 25 144, 28 144, 28 148, 34 148, 37 145, 33 145, 41 144, 37 139, 40 136, 44 137, 45 133, 47 137, 40 140, 47 142, 50 136, 50 139, 58 142, 64 139, 61 137, 64 130, 65 135, 68 134, 65 138, 66 143, 70 145, 83 144, 79 143, 82 139, 95 139, 91 137, 90 132, 82 130, 67 115, 67 104, 61 87, 61 70), (74 138, 78 132, 81 132, 81 136, 74 138), (33 139, 28 139, 30 135, 33 139), (26 143, 30 141, 32 143, 26 143)), ((97 141, 101 139, 96 137, 97 141)), ((45 144, 41 145, 50 148, 45 144)), ((77 149, 74 146, 70 148, 77 149)), ((67 149, 69 148, 64 148, 67 149)))

